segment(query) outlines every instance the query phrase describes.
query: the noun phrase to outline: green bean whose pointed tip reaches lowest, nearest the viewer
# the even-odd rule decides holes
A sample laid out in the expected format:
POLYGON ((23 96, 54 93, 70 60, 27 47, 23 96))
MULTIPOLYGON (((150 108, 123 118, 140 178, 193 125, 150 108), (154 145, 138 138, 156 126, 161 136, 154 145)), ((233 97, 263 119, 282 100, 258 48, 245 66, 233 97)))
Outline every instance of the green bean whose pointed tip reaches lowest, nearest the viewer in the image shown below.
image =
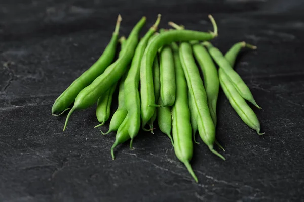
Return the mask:
POLYGON ((190 111, 188 107, 187 83, 181 66, 175 66, 176 74, 176 98, 172 106, 172 134, 174 139, 174 151, 176 157, 184 163, 188 172, 198 182, 189 161, 193 155, 192 129, 190 123, 190 111))

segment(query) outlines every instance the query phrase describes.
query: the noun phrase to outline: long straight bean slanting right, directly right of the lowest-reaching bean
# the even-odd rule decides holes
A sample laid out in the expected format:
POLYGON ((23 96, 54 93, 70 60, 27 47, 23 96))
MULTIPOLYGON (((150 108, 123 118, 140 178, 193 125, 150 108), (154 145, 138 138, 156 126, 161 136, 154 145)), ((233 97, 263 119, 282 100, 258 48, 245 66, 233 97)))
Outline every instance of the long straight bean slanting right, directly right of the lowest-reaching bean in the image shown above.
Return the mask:
POLYGON ((195 119, 198 124, 199 134, 210 151, 225 160, 225 158, 213 148, 215 141, 215 126, 208 108, 207 95, 203 81, 192 55, 191 45, 187 42, 181 43, 179 54, 191 99, 194 102, 194 109, 198 112, 195 119))

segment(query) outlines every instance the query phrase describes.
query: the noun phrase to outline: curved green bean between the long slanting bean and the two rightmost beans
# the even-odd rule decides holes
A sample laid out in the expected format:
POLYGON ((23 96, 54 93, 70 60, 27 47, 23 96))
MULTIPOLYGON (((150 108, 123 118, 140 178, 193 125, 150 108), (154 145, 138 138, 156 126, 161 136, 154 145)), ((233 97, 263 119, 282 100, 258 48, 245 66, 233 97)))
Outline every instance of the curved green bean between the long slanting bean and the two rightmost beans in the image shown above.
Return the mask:
POLYGON ((218 72, 207 49, 201 44, 193 45, 193 53, 203 72, 208 107, 213 123, 216 126, 216 103, 219 91, 218 72))

